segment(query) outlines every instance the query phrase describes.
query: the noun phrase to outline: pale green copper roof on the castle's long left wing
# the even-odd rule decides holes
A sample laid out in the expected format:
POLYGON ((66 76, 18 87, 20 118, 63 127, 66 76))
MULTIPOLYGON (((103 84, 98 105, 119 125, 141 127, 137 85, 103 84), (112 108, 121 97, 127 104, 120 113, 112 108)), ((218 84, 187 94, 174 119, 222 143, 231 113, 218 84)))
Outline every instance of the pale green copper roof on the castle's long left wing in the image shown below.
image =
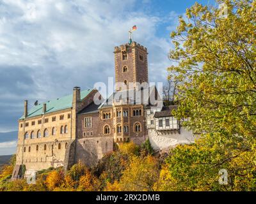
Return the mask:
MULTIPOLYGON (((93 89, 87 89, 87 90, 81 91, 81 100, 83 100, 88 94, 90 94, 90 92, 92 90, 93 89)), ((44 102, 44 103, 46 103, 46 112, 45 113, 52 113, 52 112, 56 112, 58 110, 64 110, 66 108, 71 108, 72 107, 72 99, 73 99, 73 94, 70 94, 68 96, 63 96, 58 99, 53 99, 51 101, 44 102)), ((37 115, 44 114, 43 113, 43 104, 44 103, 39 103, 38 105, 33 106, 33 108, 29 109, 28 117, 35 117, 37 115)), ((22 115, 22 117, 20 117, 20 119, 24 119, 24 115, 22 115)))

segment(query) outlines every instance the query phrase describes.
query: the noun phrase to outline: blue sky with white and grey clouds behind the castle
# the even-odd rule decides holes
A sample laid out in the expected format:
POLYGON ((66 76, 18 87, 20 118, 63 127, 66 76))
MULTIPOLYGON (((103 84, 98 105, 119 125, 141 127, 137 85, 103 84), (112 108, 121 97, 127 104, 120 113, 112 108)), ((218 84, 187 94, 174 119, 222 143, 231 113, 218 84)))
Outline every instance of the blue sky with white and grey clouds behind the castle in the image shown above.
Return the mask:
MULTIPOLYGON (((213 0, 197 1, 215 4, 213 0)), ((24 110, 114 77, 113 48, 148 48, 150 82, 166 82, 170 32, 193 0, 0 0, 0 132, 24 110)), ((1 148, 1 145, 0 145, 1 148)))

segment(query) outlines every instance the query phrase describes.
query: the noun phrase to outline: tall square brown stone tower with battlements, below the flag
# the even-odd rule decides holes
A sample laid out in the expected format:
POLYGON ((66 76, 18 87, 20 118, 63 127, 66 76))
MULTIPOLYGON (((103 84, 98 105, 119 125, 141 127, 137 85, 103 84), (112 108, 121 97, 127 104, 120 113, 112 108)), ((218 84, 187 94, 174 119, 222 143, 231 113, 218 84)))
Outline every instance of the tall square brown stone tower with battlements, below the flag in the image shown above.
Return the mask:
POLYGON ((135 88, 136 82, 148 83, 147 48, 132 41, 131 45, 115 47, 114 54, 116 91, 135 88))

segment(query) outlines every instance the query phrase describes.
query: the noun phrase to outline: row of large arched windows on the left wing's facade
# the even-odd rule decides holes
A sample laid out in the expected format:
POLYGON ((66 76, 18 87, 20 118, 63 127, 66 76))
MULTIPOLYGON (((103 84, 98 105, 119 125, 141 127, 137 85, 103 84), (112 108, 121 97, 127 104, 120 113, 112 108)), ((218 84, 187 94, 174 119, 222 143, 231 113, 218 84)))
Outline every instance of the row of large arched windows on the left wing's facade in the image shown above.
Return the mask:
MULTIPOLYGON (((24 135, 24 138, 25 138, 25 140, 26 139, 35 139, 35 138, 41 138, 42 137, 42 131, 41 130, 38 130, 38 131, 31 131, 31 133, 29 134, 28 132, 26 132, 25 133, 25 135, 24 135)), ((68 133, 68 126, 66 125, 66 126, 61 126, 60 127, 60 134, 66 134, 66 133, 68 133)), ((51 129, 51 135, 56 135, 56 128, 55 127, 53 127, 52 129, 51 129)), ((44 137, 47 137, 47 136, 49 136, 49 130, 48 130, 48 128, 45 128, 44 129, 44 131, 43 131, 43 136, 44 137)))

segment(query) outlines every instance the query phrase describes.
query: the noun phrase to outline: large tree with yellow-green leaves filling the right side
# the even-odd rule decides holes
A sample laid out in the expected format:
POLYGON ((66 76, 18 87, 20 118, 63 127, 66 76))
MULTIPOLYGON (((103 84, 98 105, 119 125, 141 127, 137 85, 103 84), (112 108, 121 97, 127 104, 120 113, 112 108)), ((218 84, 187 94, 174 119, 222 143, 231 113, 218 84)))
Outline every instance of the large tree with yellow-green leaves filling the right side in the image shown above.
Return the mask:
POLYGON ((171 33, 175 64, 168 71, 182 81, 175 116, 189 119, 182 124, 201 139, 173 150, 167 163, 176 189, 250 191, 256 187, 256 2, 218 3, 224 12, 195 3, 171 33), (227 186, 218 183, 222 168, 227 186))

